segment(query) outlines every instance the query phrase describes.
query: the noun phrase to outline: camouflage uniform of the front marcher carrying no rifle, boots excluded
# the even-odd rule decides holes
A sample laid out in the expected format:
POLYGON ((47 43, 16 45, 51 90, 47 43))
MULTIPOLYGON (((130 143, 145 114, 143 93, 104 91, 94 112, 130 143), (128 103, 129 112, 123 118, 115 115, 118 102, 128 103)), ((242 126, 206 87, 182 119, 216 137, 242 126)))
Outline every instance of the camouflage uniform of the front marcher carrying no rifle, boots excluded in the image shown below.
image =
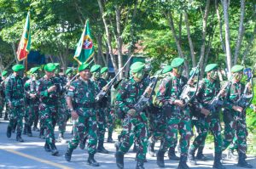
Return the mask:
POLYGON ((96 87, 93 82, 85 83, 81 78, 71 83, 67 91, 67 97, 73 98, 74 110, 79 114, 74 121, 73 138, 68 143, 68 149, 76 149, 79 140, 84 138, 84 132, 88 133, 88 153, 96 154, 97 123, 95 110, 96 87))

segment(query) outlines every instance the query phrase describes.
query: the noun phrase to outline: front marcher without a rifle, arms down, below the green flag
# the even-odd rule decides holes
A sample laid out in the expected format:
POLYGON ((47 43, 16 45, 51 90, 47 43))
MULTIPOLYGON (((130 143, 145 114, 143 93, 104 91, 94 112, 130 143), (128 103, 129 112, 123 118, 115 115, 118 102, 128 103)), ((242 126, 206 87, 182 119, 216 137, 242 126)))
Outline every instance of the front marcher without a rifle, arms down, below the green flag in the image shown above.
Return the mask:
POLYGON ((73 138, 68 143, 65 154, 66 161, 71 160, 73 149, 79 145, 79 140, 84 138, 84 132, 88 133, 87 160, 90 166, 99 166, 95 161, 97 144, 97 123, 96 123, 96 86, 90 82, 90 68, 88 64, 79 66, 80 77, 71 83, 67 91, 67 106, 73 117, 73 138))

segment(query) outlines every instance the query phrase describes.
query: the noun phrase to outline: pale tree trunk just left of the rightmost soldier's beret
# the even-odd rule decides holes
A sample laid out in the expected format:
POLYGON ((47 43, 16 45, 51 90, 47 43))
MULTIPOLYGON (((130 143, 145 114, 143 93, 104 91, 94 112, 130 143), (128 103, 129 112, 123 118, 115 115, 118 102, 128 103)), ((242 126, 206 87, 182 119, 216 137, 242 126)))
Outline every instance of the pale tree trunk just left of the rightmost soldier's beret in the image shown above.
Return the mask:
POLYGON ((230 77, 231 67, 232 67, 232 56, 230 49, 230 22, 229 22, 229 9, 228 9, 228 0, 222 0, 224 8, 224 25, 225 25, 225 44, 226 44, 226 56, 227 56, 227 67, 228 67, 228 76, 230 77))

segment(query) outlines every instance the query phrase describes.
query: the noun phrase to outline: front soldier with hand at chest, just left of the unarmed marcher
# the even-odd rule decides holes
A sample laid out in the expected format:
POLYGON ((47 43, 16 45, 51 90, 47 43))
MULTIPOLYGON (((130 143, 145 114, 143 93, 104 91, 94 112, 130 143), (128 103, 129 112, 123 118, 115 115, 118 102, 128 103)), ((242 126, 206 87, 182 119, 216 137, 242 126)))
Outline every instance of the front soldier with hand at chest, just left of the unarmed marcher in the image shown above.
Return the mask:
POLYGON ((51 155, 59 154, 55 146, 54 133, 59 96, 54 82, 55 68, 56 66, 52 63, 45 65, 45 76, 39 79, 37 84, 37 92, 40 98, 40 121, 42 122, 42 126, 46 128, 44 149, 47 152, 51 151, 51 155))

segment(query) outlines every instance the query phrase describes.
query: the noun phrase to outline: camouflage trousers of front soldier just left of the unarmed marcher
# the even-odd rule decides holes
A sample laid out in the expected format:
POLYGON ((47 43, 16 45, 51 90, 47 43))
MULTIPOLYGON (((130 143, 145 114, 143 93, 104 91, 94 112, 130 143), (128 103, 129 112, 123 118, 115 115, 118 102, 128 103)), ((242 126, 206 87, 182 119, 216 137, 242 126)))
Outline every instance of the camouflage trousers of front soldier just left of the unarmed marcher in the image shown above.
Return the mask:
POLYGON ((55 125, 56 125, 56 105, 39 104, 39 114, 42 127, 46 129, 46 140, 47 144, 55 144, 55 125))

